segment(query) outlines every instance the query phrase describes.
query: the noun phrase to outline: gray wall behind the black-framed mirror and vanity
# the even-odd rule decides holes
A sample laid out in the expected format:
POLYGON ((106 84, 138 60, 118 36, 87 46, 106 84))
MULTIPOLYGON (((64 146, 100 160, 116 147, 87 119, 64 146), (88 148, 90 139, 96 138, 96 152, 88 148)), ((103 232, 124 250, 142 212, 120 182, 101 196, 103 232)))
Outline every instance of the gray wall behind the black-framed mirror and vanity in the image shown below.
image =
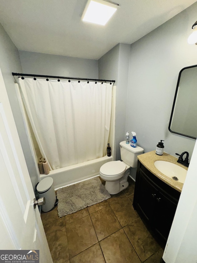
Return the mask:
POLYGON ((164 151, 191 158, 195 140, 170 133, 168 124, 179 71, 197 64, 197 46, 187 43, 196 13, 197 3, 131 44, 126 127, 145 152, 165 140, 164 151))

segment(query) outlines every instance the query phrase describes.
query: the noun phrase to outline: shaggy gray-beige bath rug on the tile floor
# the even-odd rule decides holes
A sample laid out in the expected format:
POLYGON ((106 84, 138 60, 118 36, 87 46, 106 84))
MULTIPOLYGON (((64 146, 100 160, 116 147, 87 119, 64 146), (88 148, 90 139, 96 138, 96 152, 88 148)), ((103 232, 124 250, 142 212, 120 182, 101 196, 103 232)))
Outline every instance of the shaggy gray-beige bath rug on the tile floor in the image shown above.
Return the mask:
POLYGON ((110 198, 98 177, 57 190, 58 216, 66 216, 110 198))

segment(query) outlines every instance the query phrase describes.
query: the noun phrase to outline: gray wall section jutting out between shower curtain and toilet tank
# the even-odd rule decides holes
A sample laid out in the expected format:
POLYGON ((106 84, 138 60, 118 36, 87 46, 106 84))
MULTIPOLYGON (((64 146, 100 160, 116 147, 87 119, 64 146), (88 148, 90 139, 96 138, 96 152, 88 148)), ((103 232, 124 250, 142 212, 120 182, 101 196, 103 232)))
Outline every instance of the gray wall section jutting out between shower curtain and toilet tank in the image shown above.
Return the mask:
POLYGON ((99 79, 115 80, 116 113, 115 113, 115 152, 120 160, 119 143, 125 140, 127 85, 130 45, 119 43, 98 60, 99 79))

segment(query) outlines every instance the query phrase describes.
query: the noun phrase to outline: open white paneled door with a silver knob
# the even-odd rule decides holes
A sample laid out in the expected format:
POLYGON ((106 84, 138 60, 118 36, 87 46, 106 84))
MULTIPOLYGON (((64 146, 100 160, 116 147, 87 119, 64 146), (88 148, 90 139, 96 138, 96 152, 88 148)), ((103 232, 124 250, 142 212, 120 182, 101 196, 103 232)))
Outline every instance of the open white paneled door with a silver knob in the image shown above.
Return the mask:
POLYGON ((52 263, 16 125, 0 70, 0 249, 39 250, 52 263))

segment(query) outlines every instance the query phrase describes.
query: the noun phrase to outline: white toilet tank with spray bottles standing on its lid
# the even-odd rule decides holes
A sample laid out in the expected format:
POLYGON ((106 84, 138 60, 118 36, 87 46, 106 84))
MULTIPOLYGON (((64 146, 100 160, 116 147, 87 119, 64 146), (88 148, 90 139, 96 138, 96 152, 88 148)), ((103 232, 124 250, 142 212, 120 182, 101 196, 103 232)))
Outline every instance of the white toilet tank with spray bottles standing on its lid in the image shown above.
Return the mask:
POLYGON ((143 151, 144 149, 139 146, 134 148, 130 144, 126 144, 126 141, 120 142, 121 160, 133 168, 137 167, 137 156, 143 151))

